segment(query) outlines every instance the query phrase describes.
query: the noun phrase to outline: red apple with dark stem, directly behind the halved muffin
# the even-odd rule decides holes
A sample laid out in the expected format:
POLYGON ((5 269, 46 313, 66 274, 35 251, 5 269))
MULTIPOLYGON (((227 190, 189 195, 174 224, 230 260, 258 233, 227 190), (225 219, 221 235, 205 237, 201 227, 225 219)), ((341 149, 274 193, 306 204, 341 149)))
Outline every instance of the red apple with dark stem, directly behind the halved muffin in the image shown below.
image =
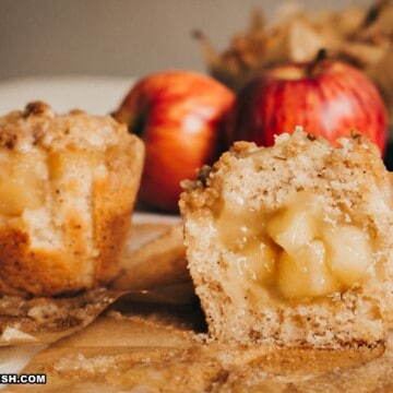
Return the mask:
POLYGON ((356 68, 327 59, 275 67, 251 80, 229 115, 228 143, 274 143, 274 135, 302 126, 332 143, 357 129, 383 155, 386 109, 374 85, 356 68))

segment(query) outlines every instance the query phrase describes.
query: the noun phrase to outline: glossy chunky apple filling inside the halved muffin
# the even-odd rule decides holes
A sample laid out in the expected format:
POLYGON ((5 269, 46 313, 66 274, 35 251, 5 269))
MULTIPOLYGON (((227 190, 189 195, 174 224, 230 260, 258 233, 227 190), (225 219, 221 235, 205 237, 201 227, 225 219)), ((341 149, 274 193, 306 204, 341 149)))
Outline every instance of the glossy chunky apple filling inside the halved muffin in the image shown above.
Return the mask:
POLYGON ((360 285, 373 269, 370 234, 348 215, 329 215, 322 200, 305 191, 275 212, 227 203, 217 229, 226 250, 241 261, 241 269, 228 269, 272 296, 331 295, 360 285))

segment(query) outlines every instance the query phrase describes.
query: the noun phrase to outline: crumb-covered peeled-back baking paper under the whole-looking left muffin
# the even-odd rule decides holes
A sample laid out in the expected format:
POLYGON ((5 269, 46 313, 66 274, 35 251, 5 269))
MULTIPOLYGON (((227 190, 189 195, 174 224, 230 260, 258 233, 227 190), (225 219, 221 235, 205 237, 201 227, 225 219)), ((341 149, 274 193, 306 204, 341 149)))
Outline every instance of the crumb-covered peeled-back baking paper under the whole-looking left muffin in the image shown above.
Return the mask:
POLYGON ((181 305, 193 299, 191 284, 155 290, 99 288, 58 299, 4 296, 0 299, 0 346, 56 342, 87 326, 116 300, 181 305))

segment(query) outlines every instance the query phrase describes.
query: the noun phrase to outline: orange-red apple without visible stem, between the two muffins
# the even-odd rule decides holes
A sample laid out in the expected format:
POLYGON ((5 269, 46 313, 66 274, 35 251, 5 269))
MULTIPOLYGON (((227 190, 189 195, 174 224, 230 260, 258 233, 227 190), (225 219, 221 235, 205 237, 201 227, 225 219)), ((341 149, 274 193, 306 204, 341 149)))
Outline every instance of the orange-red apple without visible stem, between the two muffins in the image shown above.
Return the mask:
POLYGON ((178 211, 180 181, 222 152, 223 117, 234 100, 219 82, 188 71, 151 74, 131 88, 114 116, 145 142, 142 203, 178 211))

